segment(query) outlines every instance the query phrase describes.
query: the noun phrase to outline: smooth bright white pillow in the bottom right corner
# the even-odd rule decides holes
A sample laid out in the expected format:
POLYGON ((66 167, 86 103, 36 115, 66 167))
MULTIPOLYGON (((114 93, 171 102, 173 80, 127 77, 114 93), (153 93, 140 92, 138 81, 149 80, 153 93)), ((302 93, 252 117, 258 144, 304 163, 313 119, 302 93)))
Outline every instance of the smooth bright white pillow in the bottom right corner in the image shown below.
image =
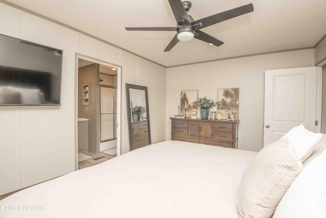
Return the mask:
POLYGON ((315 157, 296 177, 273 218, 326 216, 326 151, 315 157))

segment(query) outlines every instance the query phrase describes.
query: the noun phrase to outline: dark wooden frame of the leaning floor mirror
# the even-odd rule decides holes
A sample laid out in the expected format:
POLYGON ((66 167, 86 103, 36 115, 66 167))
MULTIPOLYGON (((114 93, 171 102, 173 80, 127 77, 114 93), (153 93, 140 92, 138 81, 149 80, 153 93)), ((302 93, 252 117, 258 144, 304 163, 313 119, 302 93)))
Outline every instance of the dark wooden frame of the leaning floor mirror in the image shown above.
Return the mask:
POLYGON ((126 83, 126 98, 127 98, 127 114, 128 114, 128 126, 129 126, 129 146, 130 151, 134 150, 133 138, 132 138, 132 117, 131 117, 131 107, 130 107, 130 92, 129 89, 139 89, 145 91, 145 99, 146 99, 146 119, 147 119, 147 133, 148 133, 148 144, 151 144, 151 131, 150 131, 150 122, 149 122, 149 107, 148 107, 148 94, 146 86, 139 86, 126 83))

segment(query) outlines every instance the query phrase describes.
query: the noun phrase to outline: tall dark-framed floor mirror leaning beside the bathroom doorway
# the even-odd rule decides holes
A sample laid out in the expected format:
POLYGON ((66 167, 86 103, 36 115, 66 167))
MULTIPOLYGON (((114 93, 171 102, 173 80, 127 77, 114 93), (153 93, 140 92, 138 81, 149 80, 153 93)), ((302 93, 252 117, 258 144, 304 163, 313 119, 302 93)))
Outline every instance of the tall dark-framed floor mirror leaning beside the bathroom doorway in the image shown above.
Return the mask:
POLYGON ((147 87, 126 84, 130 151, 151 144, 147 87))

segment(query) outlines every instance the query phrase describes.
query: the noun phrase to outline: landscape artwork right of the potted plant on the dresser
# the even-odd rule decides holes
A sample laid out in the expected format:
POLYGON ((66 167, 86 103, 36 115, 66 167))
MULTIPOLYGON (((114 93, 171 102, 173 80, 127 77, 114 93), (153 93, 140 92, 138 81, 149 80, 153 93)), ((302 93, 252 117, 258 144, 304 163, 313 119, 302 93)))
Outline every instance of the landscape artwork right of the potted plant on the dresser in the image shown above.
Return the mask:
POLYGON ((239 118, 239 88, 218 89, 217 116, 222 119, 239 118))

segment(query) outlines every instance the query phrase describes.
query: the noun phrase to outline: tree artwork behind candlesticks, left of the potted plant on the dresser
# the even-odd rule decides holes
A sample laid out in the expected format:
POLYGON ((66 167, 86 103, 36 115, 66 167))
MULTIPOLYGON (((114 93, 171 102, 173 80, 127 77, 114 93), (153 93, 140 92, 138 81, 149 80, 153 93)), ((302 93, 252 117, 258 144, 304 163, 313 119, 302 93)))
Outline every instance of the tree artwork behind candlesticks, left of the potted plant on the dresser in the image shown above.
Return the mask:
POLYGON ((180 115, 191 117, 192 114, 197 114, 198 90, 181 90, 179 107, 180 115), (184 114, 186 110, 186 114, 184 114))

